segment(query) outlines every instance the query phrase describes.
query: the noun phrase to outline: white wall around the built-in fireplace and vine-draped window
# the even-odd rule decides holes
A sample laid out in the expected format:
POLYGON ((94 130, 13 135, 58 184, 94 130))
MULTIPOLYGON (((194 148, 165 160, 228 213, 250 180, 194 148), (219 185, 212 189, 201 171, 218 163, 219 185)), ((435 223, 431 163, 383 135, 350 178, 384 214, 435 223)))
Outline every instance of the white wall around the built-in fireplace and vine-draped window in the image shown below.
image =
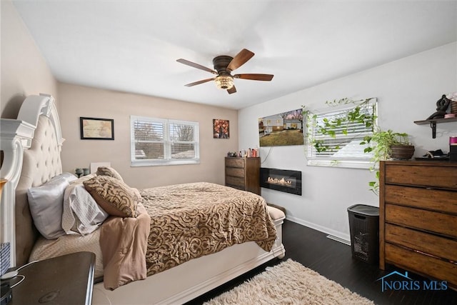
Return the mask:
MULTIPOLYGON (((303 71, 306 73, 306 71, 303 71)), ((323 109, 325 101, 348 97, 377 97, 378 124, 411 135, 415 156, 448 151, 449 136, 457 136, 457 122, 438 124, 436 139, 426 119, 436 111, 442 94, 457 91, 457 43, 431 49, 357 74, 328 81, 238 112, 240 149, 258 146, 258 118, 301 108, 323 109)), ((287 218, 328 234, 349 239, 348 206, 378 206, 368 188, 373 173, 364 169, 307 166, 303 146, 261 147, 262 167, 302 171, 303 195, 262 189, 267 202, 286 208, 287 218)))

